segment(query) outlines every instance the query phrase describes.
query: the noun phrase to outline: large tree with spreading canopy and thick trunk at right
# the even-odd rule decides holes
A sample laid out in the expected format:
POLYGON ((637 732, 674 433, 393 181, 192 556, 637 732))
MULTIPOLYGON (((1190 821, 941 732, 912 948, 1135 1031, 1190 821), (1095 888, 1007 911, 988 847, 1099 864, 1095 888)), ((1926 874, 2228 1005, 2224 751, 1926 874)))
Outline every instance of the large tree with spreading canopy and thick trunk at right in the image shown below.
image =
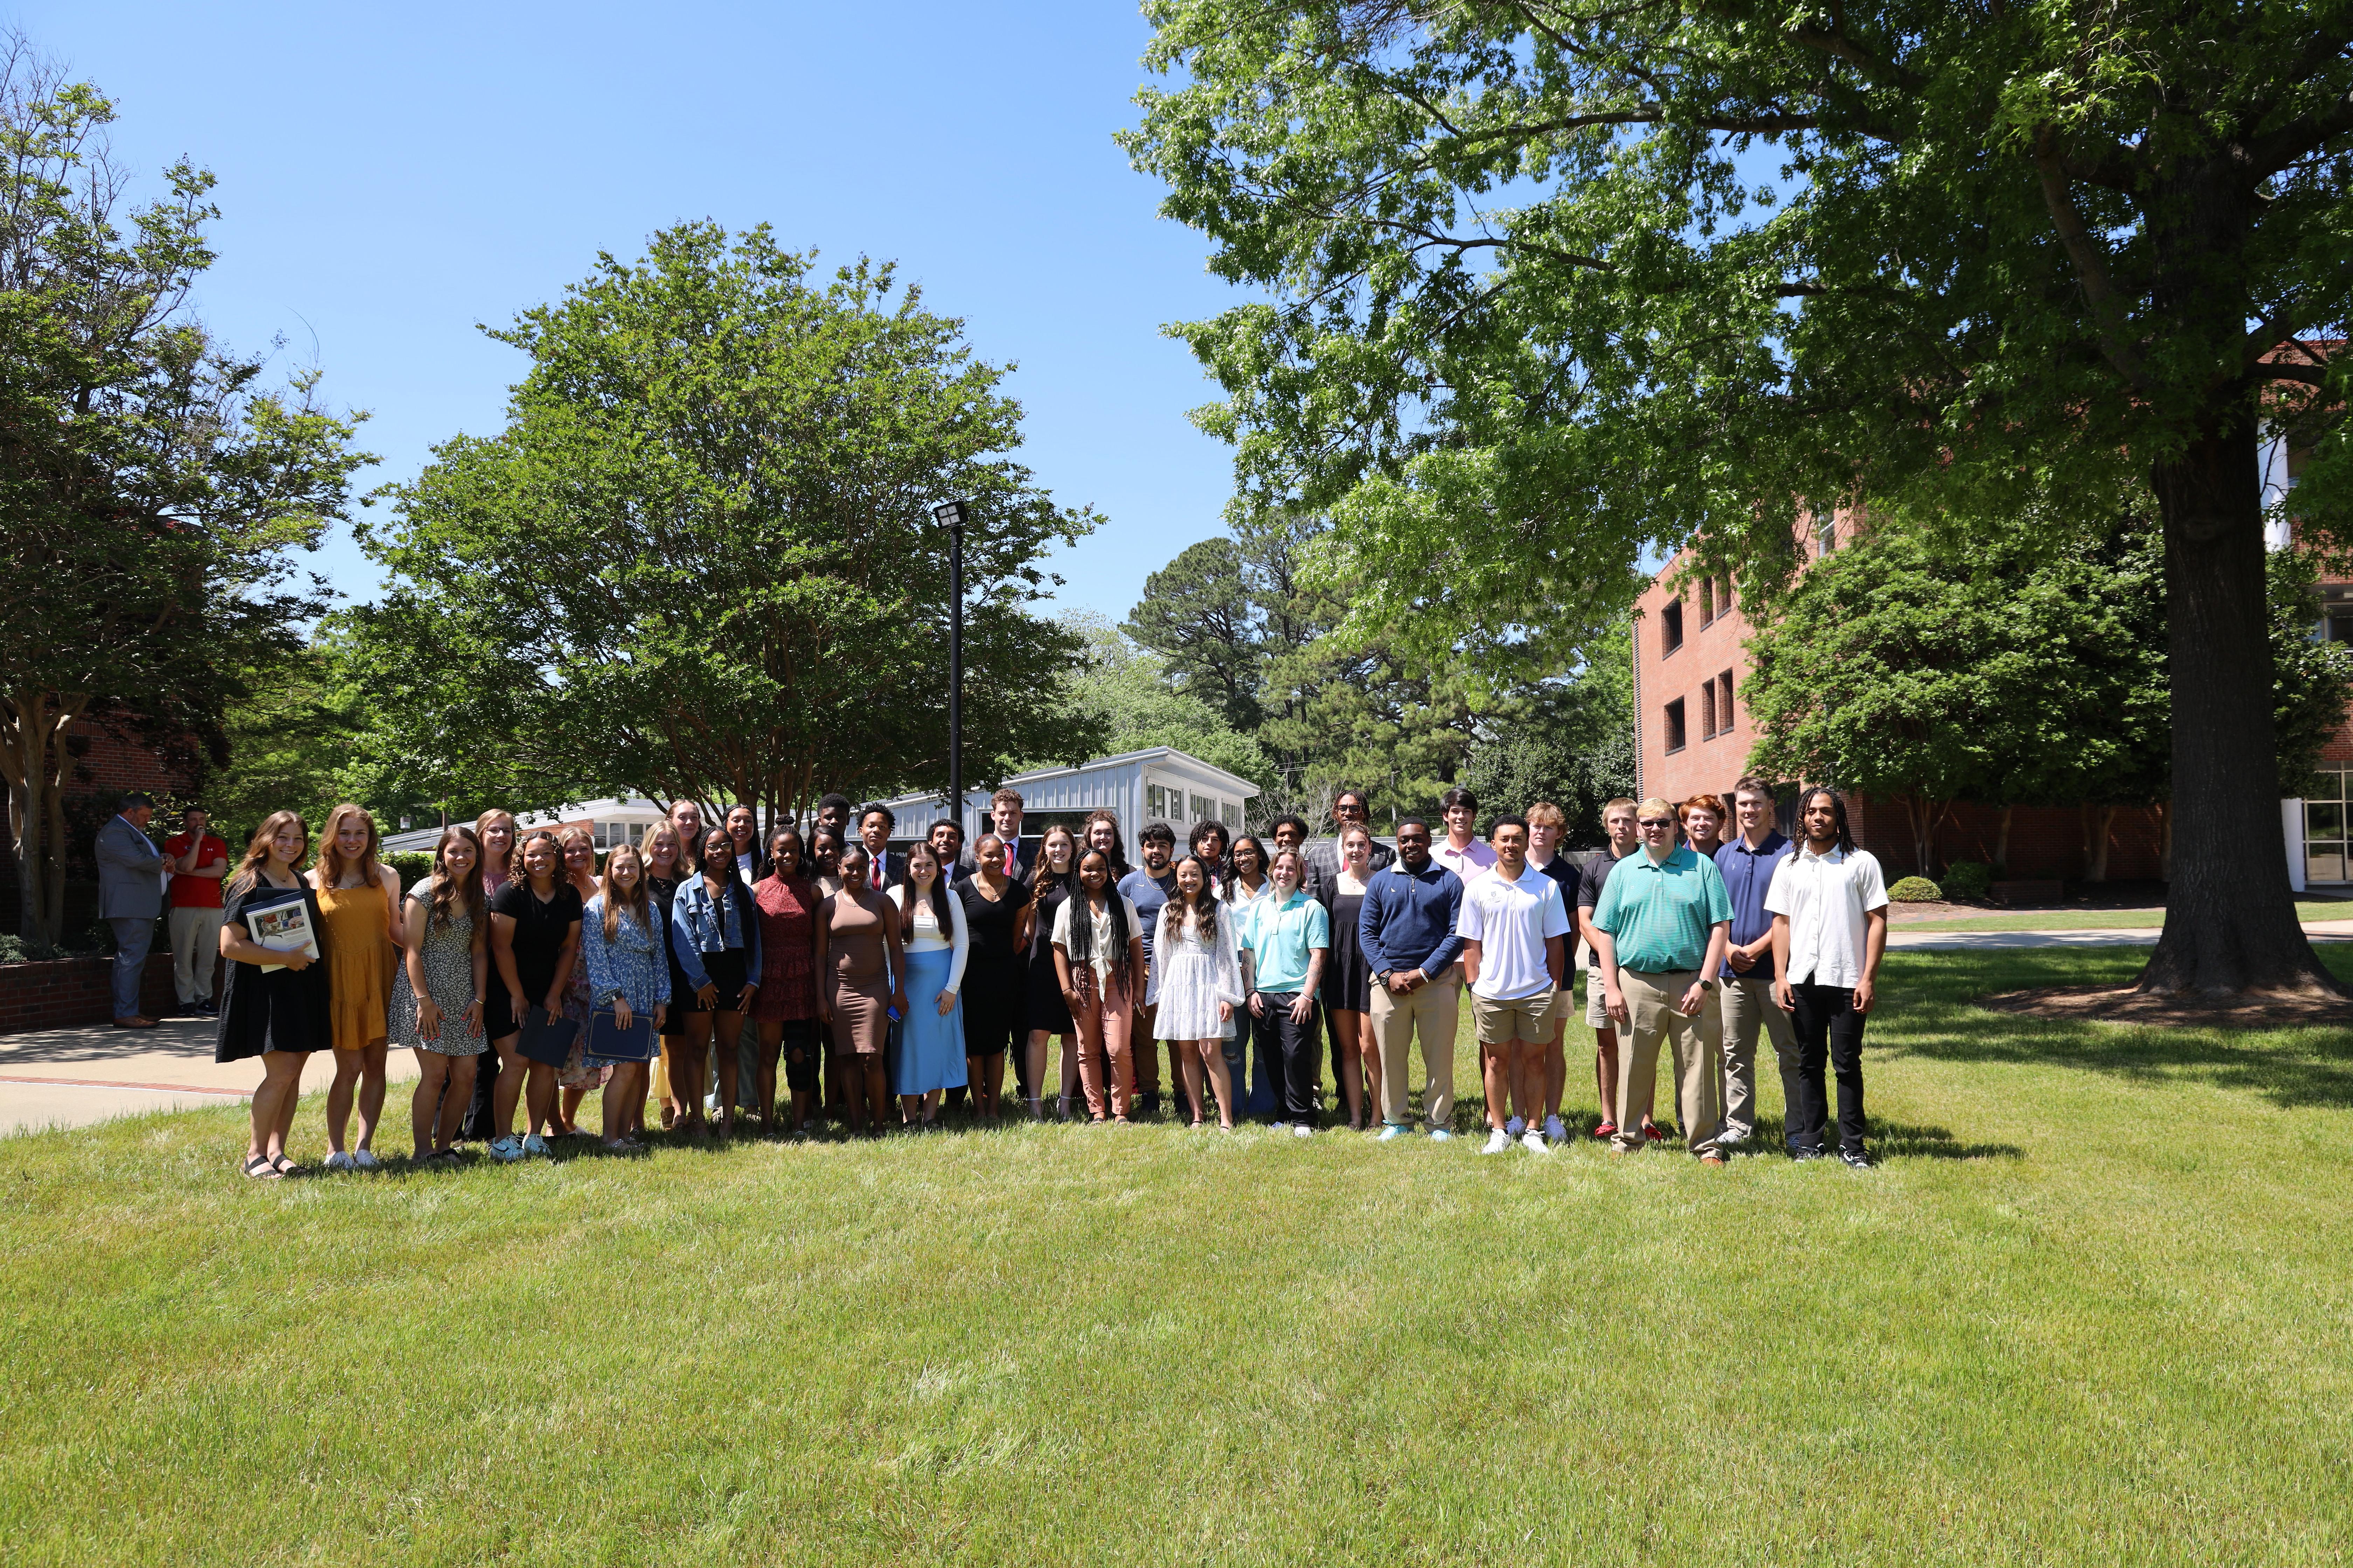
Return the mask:
POLYGON ((1184 327, 1355 618, 1508 644, 1809 508, 2155 494, 2179 802, 2160 990, 2322 985, 2273 813, 2271 388, 2344 538, 2353 0, 1158 0, 1127 146, 1264 301, 1184 327), (1409 559, 1428 576, 1386 571, 1409 559), (1574 569, 1567 569, 1572 567, 1574 569), (1558 574, 1558 576, 1555 576, 1558 574), (1567 590, 1562 590, 1567 583, 1567 590))

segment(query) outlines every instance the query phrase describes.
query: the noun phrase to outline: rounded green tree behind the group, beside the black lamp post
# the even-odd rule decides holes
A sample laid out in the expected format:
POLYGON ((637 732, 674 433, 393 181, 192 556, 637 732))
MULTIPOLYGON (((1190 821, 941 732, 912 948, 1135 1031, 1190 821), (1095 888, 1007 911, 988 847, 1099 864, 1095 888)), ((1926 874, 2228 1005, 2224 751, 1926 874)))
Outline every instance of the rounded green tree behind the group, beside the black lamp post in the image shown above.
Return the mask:
MULTIPOLYGON (((767 228, 654 235, 492 331, 506 430, 454 437, 362 534, 379 705, 445 776, 744 802, 944 788, 948 536, 965 527, 965 778, 1078 759, 1078 639, 1031 614, 1094 515, 1007 458, 1021 409, 892 268, 828 280, 767 228)), ((428 790, 431 792, 431 790, 428 790)))

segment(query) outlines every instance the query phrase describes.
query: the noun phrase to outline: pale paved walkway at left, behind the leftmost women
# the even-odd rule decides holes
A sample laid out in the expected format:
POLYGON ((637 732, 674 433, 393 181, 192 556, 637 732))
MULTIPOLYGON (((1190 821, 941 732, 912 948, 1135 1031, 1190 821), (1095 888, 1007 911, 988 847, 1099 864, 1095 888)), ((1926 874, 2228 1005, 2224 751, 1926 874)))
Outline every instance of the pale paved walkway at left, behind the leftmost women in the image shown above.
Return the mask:
MULTIPOLYGON (((214 1063, 209 1018, 165 1018, 153 1030, 35 1030, 0 1034, 0 1138, 45 1126, 87 1126, 113 1117, 193 1105, 240 1105, 261 1081, 261 1063, 214 1063)), ((416 1058, 393 1051, 388 1077, 416 1077, 416 1058)), ((334 1081, 320 1051, 304 1067, 304 1091, 334 1081)), ((407 1126, 407 1103, 386 1095, 386 1117, 407 1126)))

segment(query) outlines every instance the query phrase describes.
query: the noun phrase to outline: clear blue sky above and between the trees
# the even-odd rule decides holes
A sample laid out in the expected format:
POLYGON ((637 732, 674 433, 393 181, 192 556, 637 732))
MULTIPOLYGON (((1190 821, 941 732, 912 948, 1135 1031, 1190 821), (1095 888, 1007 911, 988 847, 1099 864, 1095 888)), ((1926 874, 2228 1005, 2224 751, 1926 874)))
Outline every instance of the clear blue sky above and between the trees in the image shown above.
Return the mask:
MULTIPOLYGON (((1132 5, 115 5, 33 0, 35 47, 115 99, 115 153, 219 176, 200 315, 282 336, 414 475, 499 425, 522 357, 475 322, 553 299, 678 219, 896 259, 981 355, 1019 362, 1021 458, 1108 527, 1054 559, 1061 602, 1122 616, 1219 531, 1212 386, 1162 322, 1233 294, 1111 134, 1134 122, 1132 5)), ((160 181, 141 186, 160 193, 160 181)), ((320 567, 367 595, 348 536, 320 567)))

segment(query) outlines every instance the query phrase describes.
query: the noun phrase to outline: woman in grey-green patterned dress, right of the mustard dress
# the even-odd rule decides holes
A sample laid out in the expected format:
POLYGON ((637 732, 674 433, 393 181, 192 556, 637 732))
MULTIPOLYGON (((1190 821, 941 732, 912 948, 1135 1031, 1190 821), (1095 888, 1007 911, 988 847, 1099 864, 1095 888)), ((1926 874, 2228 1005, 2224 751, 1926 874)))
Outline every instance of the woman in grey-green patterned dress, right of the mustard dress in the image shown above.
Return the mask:
POLYGON ((416 1161, 456 1164, 456 1126, 473 1100, 473 1070, 489 1039, 482 997, 489 985, 489 903, 482 846, 473 827, 449 823, 433 846, 433 875, 409 889, 407 940, 393 976, 393 1044, 416 1053, 409 1133, 416 1161))

